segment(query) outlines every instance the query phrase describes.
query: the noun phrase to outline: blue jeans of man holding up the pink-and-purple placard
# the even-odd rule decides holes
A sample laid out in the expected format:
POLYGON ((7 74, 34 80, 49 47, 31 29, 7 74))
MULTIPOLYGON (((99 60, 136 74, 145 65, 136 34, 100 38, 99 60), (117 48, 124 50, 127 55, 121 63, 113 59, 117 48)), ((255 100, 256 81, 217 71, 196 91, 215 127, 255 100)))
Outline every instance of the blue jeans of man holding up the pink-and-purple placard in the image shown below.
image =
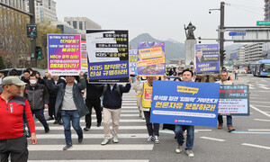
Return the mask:
POLYGON ((81 138, 83 136, 83 131, 80 126, 80 116, 77 111, 61 111, 62 115, 62 121, 64 126, 64 132, 65 132, 65 139, 67 145, 72 145, 72 139, 71 139, 71 130, 70 130, 70 121, 72 121, 72 127, 74 130, 76 130, 76 134, 78 138, 81 138))

